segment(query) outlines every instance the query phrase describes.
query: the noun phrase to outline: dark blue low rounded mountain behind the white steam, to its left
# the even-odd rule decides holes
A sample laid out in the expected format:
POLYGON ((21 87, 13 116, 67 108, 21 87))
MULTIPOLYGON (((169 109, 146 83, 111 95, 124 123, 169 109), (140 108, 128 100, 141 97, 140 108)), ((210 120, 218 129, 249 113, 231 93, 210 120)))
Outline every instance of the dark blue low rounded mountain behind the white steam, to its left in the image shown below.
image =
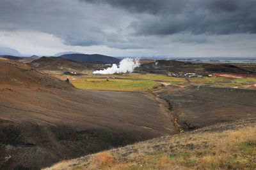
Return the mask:
POLYGON ((77 62, 104 62, 111 64, 120 62, 120 59, 100 54, 71 53, 61 55, 60 57, 67 60, 75 60, 77 62))

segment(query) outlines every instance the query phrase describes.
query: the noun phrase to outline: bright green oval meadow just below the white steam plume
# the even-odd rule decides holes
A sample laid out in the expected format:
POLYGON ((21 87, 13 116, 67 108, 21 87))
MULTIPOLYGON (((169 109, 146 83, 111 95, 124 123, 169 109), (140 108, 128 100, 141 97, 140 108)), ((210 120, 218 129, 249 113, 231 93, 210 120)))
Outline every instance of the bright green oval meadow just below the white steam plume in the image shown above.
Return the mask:
POLYGON ((117 91, 136 91, 147 90, 157 86, 155 81, 150 80, 118 80, 102 78, 86 78, 70 81, 78 89, 87 90, 117 90, 117 91))

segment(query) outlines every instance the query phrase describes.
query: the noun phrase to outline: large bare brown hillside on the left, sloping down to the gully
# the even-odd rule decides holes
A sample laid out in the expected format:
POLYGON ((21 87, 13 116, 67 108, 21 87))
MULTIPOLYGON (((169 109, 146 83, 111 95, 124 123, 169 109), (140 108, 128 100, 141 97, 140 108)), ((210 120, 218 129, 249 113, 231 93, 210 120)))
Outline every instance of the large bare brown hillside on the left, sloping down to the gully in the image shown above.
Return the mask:
POLYGON ((74 89, 11 60, 0 69, 1 169, 38 169, 177 132, 152 96, 74 89))

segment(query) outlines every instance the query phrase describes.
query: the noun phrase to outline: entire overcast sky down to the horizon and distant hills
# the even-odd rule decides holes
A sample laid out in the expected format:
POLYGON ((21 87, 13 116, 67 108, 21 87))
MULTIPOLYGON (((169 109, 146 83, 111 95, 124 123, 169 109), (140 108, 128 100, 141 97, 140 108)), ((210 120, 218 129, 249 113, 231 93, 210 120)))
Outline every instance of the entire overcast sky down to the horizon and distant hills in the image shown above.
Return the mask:
POLYGON ((0 0, 0 46, 36 55, 256 57, 256 1, 0 0))

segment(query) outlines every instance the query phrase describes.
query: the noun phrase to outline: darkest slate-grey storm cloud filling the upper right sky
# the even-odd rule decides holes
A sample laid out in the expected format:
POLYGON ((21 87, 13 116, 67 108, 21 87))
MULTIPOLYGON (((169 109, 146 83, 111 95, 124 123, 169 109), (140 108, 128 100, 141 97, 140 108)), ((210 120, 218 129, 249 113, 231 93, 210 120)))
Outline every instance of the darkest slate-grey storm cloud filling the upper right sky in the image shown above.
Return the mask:
POLYGON ((81 1, 137 13, 131 27, 138 35, 256 33, 255 0, 81 1))

